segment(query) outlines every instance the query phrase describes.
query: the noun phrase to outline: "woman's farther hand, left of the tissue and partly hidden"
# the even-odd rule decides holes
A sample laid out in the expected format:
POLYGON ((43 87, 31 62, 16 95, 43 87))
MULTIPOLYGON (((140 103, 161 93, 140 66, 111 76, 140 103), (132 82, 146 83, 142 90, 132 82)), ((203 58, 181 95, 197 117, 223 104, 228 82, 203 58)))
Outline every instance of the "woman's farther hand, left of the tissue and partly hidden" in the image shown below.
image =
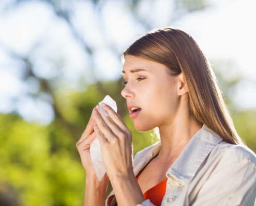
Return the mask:
POLYGON ((94 118, 92 114, 80 140, 77 142, 77 148, 81 157, 82 165, 86 171, 86 177, 96 175, 92 167, 92 160, 90 154, 91 143, 96 138, 96 134, 93 129, 93 123, 94 118))

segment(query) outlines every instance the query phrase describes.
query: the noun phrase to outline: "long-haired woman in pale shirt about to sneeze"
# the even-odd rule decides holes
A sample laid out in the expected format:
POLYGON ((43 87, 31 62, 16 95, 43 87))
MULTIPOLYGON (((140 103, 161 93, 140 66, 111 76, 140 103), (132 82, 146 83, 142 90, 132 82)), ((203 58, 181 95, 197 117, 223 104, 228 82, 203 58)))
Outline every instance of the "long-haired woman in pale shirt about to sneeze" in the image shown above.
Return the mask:
POLYGON ((109 106, 93 110, 77 143, 86 171, 84 205, 254 205, 256 157, 240 140, 215 75, 188 33, 163 28, 123 54, 123 97, 138 131, 160 142, 132 160, 132 134, 109 106), (99 182, 90 144, 98 138, 107 174, 99 182))

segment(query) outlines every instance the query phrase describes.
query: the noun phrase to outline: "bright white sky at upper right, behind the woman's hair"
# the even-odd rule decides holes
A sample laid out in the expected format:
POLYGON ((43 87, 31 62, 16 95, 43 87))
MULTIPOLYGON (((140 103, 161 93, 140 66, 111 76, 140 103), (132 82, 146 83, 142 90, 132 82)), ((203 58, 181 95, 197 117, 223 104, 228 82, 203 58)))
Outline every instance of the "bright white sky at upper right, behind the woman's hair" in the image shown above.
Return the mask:
POLYGON ((187 30, 210 60, 234 62, 222 71, 229 80, 240 75, 230 94, 240 109, 256 108, 256 1, 218 1, 216 6, 185 16, 177 26, 187 30))

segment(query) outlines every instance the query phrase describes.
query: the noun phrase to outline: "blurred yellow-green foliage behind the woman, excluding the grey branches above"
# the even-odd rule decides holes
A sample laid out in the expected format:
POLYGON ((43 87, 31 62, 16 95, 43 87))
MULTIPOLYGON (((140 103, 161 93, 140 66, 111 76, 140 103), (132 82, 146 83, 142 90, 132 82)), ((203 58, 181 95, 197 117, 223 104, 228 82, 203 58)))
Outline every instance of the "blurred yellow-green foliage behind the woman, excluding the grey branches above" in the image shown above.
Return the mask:
MULTIPOLYGON (((119 113, 133 133, 134 153, 157 141, 152 131, 140 133, 134 129, 124 109, 124 98, 116 93, 123 88, 120 82, 103 85, 117 101, 119 113)), ((85 173, 76 142, 103 97, 98 84, 81 93, 57 95, 55 104, 65 124, 55 119, 41 126, 25 122, 16 114, 0 114, 0 182, 19 191, 20 205, 82 205, 85 173)), ((255 152, 256 111, 234 112, 232 116, 238 134, 255 152)))

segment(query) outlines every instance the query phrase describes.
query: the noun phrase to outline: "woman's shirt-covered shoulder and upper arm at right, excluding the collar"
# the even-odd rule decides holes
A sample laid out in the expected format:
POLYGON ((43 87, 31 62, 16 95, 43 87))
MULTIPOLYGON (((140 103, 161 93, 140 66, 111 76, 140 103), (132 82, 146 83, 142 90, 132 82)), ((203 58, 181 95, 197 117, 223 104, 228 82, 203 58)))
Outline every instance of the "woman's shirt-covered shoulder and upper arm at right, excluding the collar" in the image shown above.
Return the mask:
POLYGON ((255 165, 255 154, 246 146, 220 142, 191 183, 193 192, 199 191, 193 205, 254 205, 255 165))

